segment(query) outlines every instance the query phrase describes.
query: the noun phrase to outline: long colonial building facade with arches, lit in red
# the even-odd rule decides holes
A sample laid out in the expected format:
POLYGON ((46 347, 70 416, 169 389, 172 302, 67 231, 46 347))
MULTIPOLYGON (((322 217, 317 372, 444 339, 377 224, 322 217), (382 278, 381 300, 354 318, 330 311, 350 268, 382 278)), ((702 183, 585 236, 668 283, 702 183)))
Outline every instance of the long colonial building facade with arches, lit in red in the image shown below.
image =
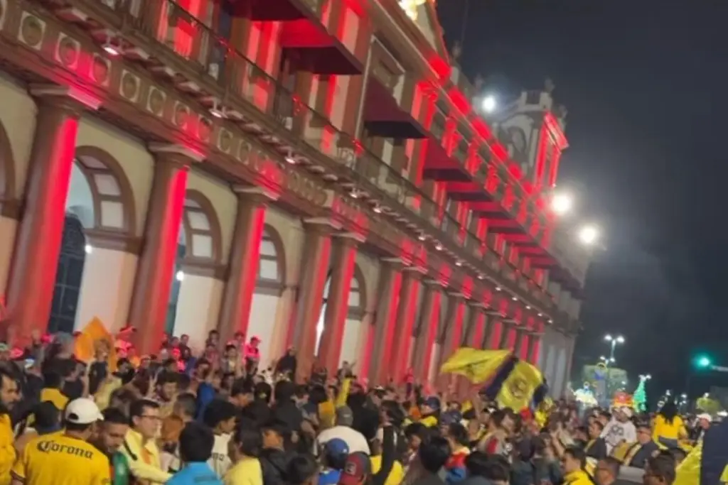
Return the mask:
POLYGON ((561 392, 563 122, 480 118, 432 1, 0 0, 0 44, 5 334, 242 331, 373 382, 511 348, 561 392))

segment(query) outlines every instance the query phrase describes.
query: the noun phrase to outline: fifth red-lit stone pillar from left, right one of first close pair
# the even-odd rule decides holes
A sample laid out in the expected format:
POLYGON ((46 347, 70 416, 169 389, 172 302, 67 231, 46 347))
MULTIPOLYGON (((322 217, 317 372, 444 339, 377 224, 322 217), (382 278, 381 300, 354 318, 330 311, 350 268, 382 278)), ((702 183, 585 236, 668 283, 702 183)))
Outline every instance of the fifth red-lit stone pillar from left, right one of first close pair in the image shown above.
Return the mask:
POLYGON ((331 284, 326 296, 326 312, 321 343, 317 356, 318 365, 328 369, 329 375, 339 370, 341 340, 349 312, 349 290, 354 278, 357 246, 364 237, 354 233, 337 234, 334 239, 331 260, 331 284))

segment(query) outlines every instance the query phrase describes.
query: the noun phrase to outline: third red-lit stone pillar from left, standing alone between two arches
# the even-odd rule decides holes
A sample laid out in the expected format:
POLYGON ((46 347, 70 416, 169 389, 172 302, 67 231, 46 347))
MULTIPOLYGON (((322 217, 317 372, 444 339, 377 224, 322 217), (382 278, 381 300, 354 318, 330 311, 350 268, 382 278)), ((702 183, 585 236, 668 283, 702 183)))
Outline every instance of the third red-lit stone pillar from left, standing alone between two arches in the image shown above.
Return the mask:
MULTIPOLYGON (((258 281, 258 260, 268 202, 278 194, 260 187, 234 187, 237 213, 218 329, 223 342, 248 331, 250 305, 258 281)), ((266 342, 265 345, 269 345, 266 342)))

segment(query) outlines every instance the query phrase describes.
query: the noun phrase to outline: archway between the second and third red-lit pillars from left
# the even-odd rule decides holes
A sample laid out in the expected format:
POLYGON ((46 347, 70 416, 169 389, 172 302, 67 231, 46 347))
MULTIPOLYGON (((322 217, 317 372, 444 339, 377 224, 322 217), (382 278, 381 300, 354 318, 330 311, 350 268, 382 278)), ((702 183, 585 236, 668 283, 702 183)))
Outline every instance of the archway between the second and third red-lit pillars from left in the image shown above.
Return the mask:
MULTIPOLYGON (((202 192, 186 192, 180 231, 177 241, 177 257, 172 278, 170 298, 167 303, 165 332, 175 334, 175 327, 181 322, 178 318, 181 295, 194 278, 218 276, 222 259, 222 235, 217 211, 210 199, 202 192)), ((187 288, 192 290, 191 287, 187 288)), ((190 291, 190 294, 194 293, 190 291)), ((186 316, 187 318, 188 316, 186 316)), ((192 316, 189 316, 192 318, 192 316)), ((182 325, 181 333, 190 331, 188 321, 182 325)), ((199 337, 199 336, 197 336, 199 337)), ((199 340, 199 338, 197 339, 199 340)))

